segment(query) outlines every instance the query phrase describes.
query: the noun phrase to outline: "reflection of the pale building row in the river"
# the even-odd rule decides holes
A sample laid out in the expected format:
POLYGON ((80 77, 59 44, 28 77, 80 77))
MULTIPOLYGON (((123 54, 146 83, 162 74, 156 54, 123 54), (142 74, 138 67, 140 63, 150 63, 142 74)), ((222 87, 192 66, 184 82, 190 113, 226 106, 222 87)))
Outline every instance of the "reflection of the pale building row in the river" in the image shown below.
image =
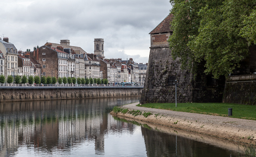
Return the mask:
MULTIPOLYGON (((121 99, 125 104, 138 101, 138 97, 121 99)), ((0 156, 15 154, 19 145, 51 152, 84 141, 94 142, 95 154, 104 154, 106 132, 124 126, 105 112, 116 102, 117 98, 101 98, 1 103, 0 156)), ((125 127, 133 130, 132 124, 125 127)))

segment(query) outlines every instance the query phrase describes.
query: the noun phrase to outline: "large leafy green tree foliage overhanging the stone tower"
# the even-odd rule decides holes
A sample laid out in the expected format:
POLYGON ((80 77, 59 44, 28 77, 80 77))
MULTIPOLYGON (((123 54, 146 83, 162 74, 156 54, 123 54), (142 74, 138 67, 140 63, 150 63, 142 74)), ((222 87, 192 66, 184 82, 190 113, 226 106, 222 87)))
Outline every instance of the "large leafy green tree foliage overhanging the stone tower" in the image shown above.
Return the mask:
MULTIPOLYGON (((204 61, 205 72, 219 78, 239 67, 248 54, 246 19, 252 19, 255 0, 170 0, 173 21, 169 44, 182 68, 204 61), (250 16, 251 15, 251 16, 250 16)), ((253 16, 254 17, 254 16, 253 16)), ((255 20, 251 20, 251 23, 255 20)), ((254 29, 255 30, 255 29, 254 29)))

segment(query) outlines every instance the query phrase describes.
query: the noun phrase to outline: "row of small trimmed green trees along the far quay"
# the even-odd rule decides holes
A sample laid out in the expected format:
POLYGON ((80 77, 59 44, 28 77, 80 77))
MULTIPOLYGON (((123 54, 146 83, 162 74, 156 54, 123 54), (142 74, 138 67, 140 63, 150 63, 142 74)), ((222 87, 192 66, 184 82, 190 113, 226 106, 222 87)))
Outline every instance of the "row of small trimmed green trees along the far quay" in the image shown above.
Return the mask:
MULTIPOLYGON (((15 84, 56 84, 58 81, 59 84, 108 84, 108 79, 96 79, 96 78, 75 78, 75 77, 59 77, 59 79, 57 80, 56 77, 40 77, 39 76, 15 76, 15 79, 13 76, 9 75, 7 76, 6 82, 7 83, 12 83, 15 82, 15 84)), ((4 84, 5 83, 5 76, 4 75, 0 75, 0 83, 4 84)))

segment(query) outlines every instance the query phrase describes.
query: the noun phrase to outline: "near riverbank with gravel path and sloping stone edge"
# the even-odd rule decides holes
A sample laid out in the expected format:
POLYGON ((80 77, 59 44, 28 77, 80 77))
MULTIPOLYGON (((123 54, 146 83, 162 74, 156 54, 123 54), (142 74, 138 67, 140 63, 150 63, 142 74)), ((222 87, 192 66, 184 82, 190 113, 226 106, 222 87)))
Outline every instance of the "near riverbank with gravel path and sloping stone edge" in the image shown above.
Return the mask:
POLYGON ((254 120, 144 108, 136 106, 137 104, 139 102, 124 105, 123 108, 128 109, 126 113, 114 113, 112 111, 111 114, 226 140, 256 144, 256 121, 254 120), (147 117, 142 114, 135 116, 129 113, 132 110, 140 110, 142 113, 150 112, 152 114, 147 114, 147 117))

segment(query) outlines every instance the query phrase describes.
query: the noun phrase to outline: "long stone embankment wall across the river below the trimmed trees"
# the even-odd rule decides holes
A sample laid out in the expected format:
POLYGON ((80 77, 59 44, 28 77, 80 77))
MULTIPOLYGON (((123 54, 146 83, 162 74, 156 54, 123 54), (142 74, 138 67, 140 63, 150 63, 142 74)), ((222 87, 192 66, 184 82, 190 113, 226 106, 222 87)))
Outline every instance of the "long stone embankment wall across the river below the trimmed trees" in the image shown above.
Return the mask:
POLYGON ((142 88, 0 88, 0 102, 139 96, 142 88))

